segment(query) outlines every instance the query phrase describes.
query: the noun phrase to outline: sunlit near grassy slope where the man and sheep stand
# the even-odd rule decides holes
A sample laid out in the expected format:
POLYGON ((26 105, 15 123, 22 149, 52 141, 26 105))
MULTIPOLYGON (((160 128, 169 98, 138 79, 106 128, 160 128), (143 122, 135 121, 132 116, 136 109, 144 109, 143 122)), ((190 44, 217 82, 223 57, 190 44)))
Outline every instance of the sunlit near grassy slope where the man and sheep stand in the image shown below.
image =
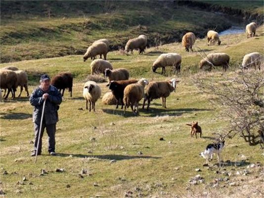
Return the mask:
MULTIPOLYGON (((205 160, 199 153, 214 141, 214 133, 223 131, 228 121, 219 117, 220 106, 213 106, 211 96, 202 95, 193 85, 192 75, 205 79, 233 75, 244 54, 263 52, 264 27, 257 30, 255 38, 246 39, 245 34, 221 37, 220 46, 208 47, 205 39, 197 40, 198 52, 187 53, 180 43, 168 44, 146 50, 143 55, 122 55, 119 51, 109 53, 108 60, 114 68, 126 67, 132 78, 145 77, 149 80, 164 80, 173 77, 170 68, 167 75, 151 72, 153 61, 163 52, 178 52, 182 55, 182 72, 176 93, 167 99, 168 109, 161 106, 160 99, 151 103, 150 111, 140 111, 135 117, 129 109, 126 117, 123 110, 114 106, 96 103, 96 112, 85 110, 82 98, 83 82, 90 72, 89 63, 82 55, 0 64, 14 65, 26 70, 30 76, 30 92, 38 84, 39 75, 53 76, 59 71, 74 74, 73 98, 65 94, 59 110, 56 152, 48 156, 46 134, 43 139, 43 155, 30 157, 33 148, 32 106, 22 93, 21 99, 7 99, 0 103, 0 168, 7 174, 1 175, 0 188, 6 197, 250 197, 262 195, 263 166, 248 169, 250 174, 237 175, 251 163, 263 163, 263 150, 249 147, 239 137, 226 140, 223 150, 224 167, 203 167, 205 160), (226 74, 217 71, 202 72, 197 65, 200 54, 226 52, 231 57, 231 68, 226 74), (84 110, 82 110, 84 109, 84 110), (190 138, 186 123, 199 121, 203 138, 190 138), (160 141, 164 138, 165 141, 160 141), (95 139, 95 141, 94 141, 95 139), (142 154, 139 154, 142 152, 142 154), (242 155, 247 158, 246 161, 242 155), (240 163, 240 164, 239 164, 240 163), (64 168, 65 172, 55 172, 64 168), (197 173, 196 168, 201 172, 197 173), (40 175, 41 169, 48 174, 40 175), (88 174, 81 174, 82 169, 88 174), (218 172, 217 172, 218 171, 218 172), (230 176, 222 174, 230 173, 230 176), (219 173, 219 174, 218 174, 219 173), (189 186, 189 179, 197 174, 205 183, 189 186), (25 181, 23 177, 26 177, 25 181), (221 181, 224 178, 229 181, 221 181), (220 179, 219 187, 212 187, 220 179), (234 183, 234 185, 232 184, 234 183), (229 185, 230 184, 230 185, 229 185), (231 185, 232 184, 232 185, 231 185)), ((158 71, 160 72, 160 71, 158 71)), ((262 71, 263 72, 263 71, 262 71)), ((100 84, 106 93, 106 83, 100 84)), ((141 101, 142 102, 142 101, 141 101)), ((214 159, 210 164, 217 162, 214 159)))

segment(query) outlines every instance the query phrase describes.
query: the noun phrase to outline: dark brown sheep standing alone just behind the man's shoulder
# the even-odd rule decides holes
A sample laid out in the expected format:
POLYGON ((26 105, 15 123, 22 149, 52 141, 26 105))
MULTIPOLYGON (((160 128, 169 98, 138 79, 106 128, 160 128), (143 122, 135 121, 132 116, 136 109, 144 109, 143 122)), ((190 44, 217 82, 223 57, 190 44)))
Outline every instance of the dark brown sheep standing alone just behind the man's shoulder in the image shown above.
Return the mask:
POLYGON ((52 77, 51 85, 56 87, 59 92, 62 90, 62 96, 65 89, 69 89, 70 96, 72 97, 73 76, 70 72, 62 72, 52 77))

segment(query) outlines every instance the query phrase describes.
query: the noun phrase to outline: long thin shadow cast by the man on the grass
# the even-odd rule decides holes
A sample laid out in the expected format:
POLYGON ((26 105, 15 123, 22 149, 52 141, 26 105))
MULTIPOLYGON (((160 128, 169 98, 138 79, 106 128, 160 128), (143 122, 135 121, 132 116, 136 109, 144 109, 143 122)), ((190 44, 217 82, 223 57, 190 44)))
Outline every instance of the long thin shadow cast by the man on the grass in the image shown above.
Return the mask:
POLYGON ((108 160, 128 160, 128 159, 161 159, 162 157, 152 157, 152 156, 141 156, 141 155, 115 155, 115 154, 106 154, 106 155, 85 155, 85 154, 67 154, 67 153, 57 153, 56 156, 59 157, 69 157, 72 155, 73 157, 80 157, 80 158, 86 158, 86 157, 93 157, 98 159, 108 159, 108 160))

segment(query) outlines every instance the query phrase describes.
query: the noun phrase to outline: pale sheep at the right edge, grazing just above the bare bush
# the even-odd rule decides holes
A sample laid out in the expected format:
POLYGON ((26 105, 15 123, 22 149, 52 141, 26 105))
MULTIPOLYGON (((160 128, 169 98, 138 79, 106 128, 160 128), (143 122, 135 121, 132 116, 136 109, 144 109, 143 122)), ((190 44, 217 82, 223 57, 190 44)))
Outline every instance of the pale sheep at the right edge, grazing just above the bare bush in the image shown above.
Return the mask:
POLYGON ((259 67, 260 70, 262 58, 263 57, 259 52, 248 53, 243 58, 242 68, 249 68, 254 66, 255 69, 256 67, 259 67))

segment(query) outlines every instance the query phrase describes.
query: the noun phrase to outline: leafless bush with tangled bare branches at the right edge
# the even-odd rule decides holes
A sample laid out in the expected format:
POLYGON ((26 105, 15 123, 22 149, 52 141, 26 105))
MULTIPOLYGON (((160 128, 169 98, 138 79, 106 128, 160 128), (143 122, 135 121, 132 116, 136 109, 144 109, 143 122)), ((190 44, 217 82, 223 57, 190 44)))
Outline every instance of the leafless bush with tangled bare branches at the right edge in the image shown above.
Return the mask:
POLYGON ((264 70, 237 70, 222 78, 195 75, 202 93, 213 95, 211 102, 221 106, 221 117, 229 121, 223 138, 242 137, 250 146, 264 144, 264 70))

